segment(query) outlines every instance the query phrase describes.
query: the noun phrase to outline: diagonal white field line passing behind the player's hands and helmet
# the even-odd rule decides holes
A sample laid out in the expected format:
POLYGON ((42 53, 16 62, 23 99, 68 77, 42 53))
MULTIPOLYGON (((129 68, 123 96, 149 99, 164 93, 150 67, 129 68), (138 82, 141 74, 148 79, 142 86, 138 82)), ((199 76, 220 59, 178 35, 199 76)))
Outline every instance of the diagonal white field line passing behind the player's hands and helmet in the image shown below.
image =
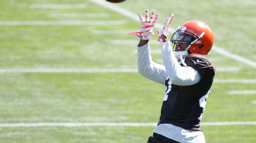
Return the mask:
MULTIPOLYGON (((113 10, 114 12, 117 12, 117 13, 119 13, 121 15, 124 15, 127 18, 133 19, 135 21, 140 21, 138 19, 138 15, 135 15, 134 13, 129 12, 128 10, 125 10, 125 9, 123 9, 121 7, 118 7, 117 5, 111 4, 110 2, 106 2, 106 1, 103 1, 103 0, 90 0, 90 1, 94 2, 95 4, 101 5, 102 7, 105 7, 105 8, 108 8, 110 10, 113 10)), ((158 29, 162 29, 163 25, 156 23, 155 27, 158 28, 158 29)), ((175 29, 171 28, 170 32, 174 33, 175 29)), ((216 52, 216 53, 219 53, 219 54, 221 54, 223 56, 226 56, 227 58, 231 58, 231 59, 234 59, 235 61, 243 62, 244 64, 247 64, 247 65, 250 65, 250 66, 256 68, 256 62, 251 61, 251 60, 246 59, 246 58, 243 58, 242 56, 235 55, 233 53, 227 52, 226 50, 224 50, 221 47, 217 47, 217 46, 214 45, 212 50, 214 52, 216 52)))

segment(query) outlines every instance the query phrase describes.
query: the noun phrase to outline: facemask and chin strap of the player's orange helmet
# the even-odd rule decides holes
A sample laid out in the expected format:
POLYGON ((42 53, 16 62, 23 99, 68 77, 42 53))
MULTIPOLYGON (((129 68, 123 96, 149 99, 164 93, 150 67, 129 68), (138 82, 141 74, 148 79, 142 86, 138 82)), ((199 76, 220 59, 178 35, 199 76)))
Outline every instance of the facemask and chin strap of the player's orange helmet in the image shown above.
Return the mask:
POLYGON ((190 53, 191 45, 199 45, 200 37, 186 30, 186 27, 177 28, 171 37, 172 50, 177 60, 180 61, 190 53))

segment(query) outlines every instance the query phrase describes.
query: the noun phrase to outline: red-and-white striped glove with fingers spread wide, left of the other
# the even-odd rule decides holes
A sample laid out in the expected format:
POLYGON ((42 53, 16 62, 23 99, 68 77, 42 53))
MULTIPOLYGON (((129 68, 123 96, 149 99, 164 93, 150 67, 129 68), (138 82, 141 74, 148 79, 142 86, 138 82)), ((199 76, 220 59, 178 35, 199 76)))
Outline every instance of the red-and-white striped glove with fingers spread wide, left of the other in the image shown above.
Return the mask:
POLYGON ((148 19, 148 9, 145 10, 145 20, 143 20, 141 13, 138 16, 141 21, 141 28, 138 32, 129 33, 129 35, 138 36, 140 39, 148 40, 151 35, 154 35, 153 28, 157 22, 158 15, 155 15, 155 10, 152 10, 151 17, 148 19))

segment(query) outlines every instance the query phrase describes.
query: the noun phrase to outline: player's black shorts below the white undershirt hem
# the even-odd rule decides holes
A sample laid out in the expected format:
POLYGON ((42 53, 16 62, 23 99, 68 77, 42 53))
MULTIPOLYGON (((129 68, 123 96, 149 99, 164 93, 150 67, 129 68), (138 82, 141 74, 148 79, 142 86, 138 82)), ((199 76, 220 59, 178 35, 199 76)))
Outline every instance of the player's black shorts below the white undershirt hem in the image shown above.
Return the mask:
POLYGON ((165 136, 154 133, 153 136, 150 136, 148 143, 179 143, 172 139, 166 138, 165 136))

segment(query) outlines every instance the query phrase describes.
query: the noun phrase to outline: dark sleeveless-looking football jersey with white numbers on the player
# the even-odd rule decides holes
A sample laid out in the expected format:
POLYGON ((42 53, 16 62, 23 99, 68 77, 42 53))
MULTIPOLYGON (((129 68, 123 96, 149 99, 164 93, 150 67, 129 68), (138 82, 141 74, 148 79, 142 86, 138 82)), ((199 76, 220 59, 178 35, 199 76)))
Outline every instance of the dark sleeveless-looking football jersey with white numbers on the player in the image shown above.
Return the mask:
POLYGON ((158 124, 173 124, 200 131, 200 121, 216 68, 205 56, 197 54, 186 56, 185 64, 197 70, 201 79, 197 84, 187 86, 174 85, 169 78, 166 79, 166 95, 158 124))

